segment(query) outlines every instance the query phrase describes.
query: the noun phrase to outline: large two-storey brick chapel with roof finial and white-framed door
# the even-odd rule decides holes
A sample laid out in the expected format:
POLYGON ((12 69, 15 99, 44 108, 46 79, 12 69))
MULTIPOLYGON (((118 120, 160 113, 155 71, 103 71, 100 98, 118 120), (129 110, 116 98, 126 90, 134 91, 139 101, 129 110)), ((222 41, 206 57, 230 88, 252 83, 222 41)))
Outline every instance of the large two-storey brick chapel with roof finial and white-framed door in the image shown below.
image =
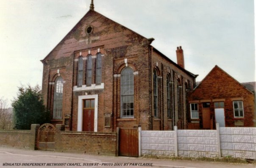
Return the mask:
MULTIPOLYGON (((92 1, 93 2, 93 1, 92 1)), ((52 124, 66 130, 113 132, 186 128, 186 91, 197 75, 147 39, 90 10, 42 60, 42 95, 52 124)))

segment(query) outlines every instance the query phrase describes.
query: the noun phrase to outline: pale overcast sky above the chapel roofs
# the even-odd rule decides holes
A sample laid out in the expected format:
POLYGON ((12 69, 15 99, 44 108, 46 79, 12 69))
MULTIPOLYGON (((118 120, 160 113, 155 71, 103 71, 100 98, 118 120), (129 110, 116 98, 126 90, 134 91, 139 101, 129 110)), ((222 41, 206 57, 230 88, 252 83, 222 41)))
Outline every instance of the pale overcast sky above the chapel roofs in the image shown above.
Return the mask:
MULTIPOLYGON (((42 85, 40 62, 89 10, 91 0, 0 0, 0 98, 42 85)), ((95 11, 154 38, 152 45, 202 80, 215 66, 255 81, 253 0, 94 0, 95 11)))

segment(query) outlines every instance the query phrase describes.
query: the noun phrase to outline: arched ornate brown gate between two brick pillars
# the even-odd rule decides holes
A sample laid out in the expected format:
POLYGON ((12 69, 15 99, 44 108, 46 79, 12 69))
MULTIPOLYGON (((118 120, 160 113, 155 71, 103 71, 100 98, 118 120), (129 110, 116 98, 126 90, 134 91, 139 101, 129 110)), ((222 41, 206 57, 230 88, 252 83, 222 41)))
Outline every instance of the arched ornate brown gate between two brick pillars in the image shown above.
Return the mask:
POLYGON ((37 149, 53 151, 55 144, 55 127, 52 124, 43 124, 38 129, 37 149))

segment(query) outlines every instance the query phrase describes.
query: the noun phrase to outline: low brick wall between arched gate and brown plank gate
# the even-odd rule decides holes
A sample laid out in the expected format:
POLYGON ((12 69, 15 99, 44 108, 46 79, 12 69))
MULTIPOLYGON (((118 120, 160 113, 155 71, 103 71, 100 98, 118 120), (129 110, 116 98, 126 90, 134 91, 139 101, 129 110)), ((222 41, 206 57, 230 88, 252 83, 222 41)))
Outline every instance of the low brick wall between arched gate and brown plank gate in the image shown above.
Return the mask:
POLYGON ((56 124, 55 151, 116 156, 116 132, 62 131, 56 124))

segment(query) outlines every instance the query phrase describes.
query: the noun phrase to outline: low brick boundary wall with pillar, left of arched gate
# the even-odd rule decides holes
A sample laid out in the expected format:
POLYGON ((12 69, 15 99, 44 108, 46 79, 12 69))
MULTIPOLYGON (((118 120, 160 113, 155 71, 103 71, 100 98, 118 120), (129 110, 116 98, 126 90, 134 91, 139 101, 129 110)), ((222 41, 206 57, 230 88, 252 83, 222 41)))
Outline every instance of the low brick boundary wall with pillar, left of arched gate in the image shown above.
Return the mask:
POLYGON ((36 149, 38 127, 32 124, 31 130, 0 130, 0 146, 36 149))

